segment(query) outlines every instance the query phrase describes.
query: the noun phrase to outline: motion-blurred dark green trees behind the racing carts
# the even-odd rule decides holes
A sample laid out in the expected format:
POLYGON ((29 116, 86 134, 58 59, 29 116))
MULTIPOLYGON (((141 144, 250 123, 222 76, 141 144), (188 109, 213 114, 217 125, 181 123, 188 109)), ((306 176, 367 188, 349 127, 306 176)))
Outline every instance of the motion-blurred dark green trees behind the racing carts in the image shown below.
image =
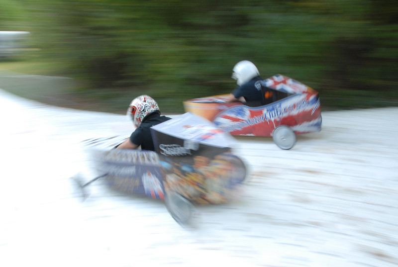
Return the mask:
POLYGON ((263 78, 280 73, 318 90, 324 108, 398 98, 393 0, 2 2, 0 25, 31 31, 36 58, 86 81, 79 90, 92 97, 147 93, 180 112, 183 100, 230 92, 232 67, 246 59, 263 78))

